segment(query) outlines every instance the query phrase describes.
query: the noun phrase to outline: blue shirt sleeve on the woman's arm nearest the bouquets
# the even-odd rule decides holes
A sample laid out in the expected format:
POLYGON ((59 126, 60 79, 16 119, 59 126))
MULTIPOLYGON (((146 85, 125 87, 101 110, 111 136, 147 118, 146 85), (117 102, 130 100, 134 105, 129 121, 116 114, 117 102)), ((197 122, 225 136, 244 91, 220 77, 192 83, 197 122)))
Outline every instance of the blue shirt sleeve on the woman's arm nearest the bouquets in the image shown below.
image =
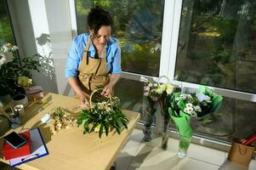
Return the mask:
POLYGON ((114 56, 112 59, 112 71, 113 74, 120 74, 122 72, 121 68, 121 49, 117 42, 116 50, 114 51, 114 56))

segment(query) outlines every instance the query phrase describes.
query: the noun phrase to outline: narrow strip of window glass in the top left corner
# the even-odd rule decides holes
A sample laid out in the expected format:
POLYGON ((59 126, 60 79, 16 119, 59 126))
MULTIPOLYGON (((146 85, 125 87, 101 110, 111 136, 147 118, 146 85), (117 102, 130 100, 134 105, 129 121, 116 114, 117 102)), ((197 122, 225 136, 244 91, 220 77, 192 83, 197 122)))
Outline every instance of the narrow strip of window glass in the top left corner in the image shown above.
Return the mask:
POLYGON ((14 38, 7 3, 5 0, 0 0, 0 45, 6 42, 14 44, 14 38))

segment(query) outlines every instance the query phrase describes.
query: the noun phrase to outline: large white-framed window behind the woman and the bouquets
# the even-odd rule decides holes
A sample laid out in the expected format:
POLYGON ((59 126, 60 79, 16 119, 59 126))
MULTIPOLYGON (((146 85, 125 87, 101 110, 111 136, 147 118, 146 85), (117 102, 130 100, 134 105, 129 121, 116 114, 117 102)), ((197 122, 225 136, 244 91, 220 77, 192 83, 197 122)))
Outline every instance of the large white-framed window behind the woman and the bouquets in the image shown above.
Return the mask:
POLYGON ((230 142, 256 131, 255 1, 77 0, 78 33, 86 31, 94 5, 114 18, 124 71, 115 93, 124 108, 141 111, 141 77, 165 75, 184 87, 202 84, 224 95, 213 122, 193 122, 196 135, 230 142))

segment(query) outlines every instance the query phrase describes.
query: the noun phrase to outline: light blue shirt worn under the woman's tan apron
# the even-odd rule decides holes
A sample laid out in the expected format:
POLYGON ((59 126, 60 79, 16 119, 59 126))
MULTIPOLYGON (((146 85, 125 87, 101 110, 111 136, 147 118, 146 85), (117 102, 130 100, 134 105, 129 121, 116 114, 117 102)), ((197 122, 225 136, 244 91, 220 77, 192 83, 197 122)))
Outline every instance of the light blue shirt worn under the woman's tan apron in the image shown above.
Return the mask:
MULTIPOLYGON (((74 38, 71 48, 68 53, 68 58, 65 65, 65 77, 77 77, 78 67, 82 61, 83 50, 88 41, 88 33, 81 34, 74 38)), ((110 37, 105 45, 106 66, 108 73, 120 74, 121 69, 121 49, 118 41, 114 37, 110 37)), ((91 42, 88 48, 88 57, 94 58, 95 49, 91 42)))

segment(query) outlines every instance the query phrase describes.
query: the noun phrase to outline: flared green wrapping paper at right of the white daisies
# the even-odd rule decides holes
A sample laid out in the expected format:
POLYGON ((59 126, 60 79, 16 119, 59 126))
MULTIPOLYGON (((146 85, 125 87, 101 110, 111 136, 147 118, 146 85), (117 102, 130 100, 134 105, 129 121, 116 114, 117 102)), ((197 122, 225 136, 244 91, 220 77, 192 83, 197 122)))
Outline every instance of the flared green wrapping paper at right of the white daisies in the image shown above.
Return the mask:
POLYGON ((208 95, 211 98, 212 103, 211 103, 211 106, 210 106, 211 110, 209 112, 202 113, 202 115, 198 115, 198 117, 205 116, 209 113, 214 113, 214 112, 218 111, 219 107, 222 103, 223 97, 219 94, 216 94, 215 92, 213 92, 209 88, 206 88, 205 86, 200 86, 199 88, 197 88, 196 94, 198 94, 200 92, 202 94, 208 95))

